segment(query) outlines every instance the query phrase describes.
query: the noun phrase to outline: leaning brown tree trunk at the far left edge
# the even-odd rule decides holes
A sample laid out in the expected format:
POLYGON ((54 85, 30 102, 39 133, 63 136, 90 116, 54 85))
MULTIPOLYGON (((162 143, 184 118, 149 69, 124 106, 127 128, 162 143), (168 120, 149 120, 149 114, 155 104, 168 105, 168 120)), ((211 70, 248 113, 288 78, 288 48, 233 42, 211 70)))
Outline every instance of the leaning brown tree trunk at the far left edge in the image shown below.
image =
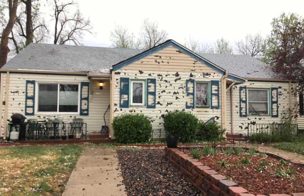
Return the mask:
POLYGON ((3 29, 2 38, 0 42, 0 68, 6 64, 7 54, 9 53, 9 34, 13 29, 15 19, 16 19, 16 12, 18 6, 18 0, 8 0, 9 2, 9 21, 3 29), (13 2, 12 2, 13 1, 13 2))

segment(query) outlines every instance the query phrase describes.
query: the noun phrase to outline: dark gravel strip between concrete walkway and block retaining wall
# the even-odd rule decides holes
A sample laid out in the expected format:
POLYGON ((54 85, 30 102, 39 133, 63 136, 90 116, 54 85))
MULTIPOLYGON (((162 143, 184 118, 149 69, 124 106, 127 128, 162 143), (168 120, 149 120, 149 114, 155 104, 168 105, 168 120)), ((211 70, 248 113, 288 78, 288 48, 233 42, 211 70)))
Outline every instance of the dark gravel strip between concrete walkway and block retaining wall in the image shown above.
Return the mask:
POLYGON ((117 150, 128 196, 203 196, 163 149, 117 150))

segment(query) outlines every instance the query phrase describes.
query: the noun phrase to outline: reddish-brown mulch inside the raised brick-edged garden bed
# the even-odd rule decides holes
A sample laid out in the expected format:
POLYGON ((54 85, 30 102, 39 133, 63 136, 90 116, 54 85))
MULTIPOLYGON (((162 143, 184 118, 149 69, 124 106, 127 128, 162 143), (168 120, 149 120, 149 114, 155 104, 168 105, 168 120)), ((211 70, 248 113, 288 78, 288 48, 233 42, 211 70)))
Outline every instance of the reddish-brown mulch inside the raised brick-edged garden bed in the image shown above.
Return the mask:
MULTIPOLYGON (((188 149, 184 149, 184 152, 190 155, 188 149)), ((291 193, 304 192, 304 167, 287 163, 283 167, 286 169, 289 167, 293 171, 292 175, 291 177, 282 177, 275 174, 276 164, 280 167, 281 163, 279 159, 273 157, 250 156, 249 154, 226 156, 219 150, 216 157, 211 155, 202 156, 199 161, 230 178, 252 194, 285 193, 291 195, 291 193), (250 158, 251 163, 240 163, 242 157, 250 158), (264 171, 259 171, 260 160, 263 158, 267 168, 264 171), (222 160, 226 160, 229 166, 220 166, 217 161, 222 160)))

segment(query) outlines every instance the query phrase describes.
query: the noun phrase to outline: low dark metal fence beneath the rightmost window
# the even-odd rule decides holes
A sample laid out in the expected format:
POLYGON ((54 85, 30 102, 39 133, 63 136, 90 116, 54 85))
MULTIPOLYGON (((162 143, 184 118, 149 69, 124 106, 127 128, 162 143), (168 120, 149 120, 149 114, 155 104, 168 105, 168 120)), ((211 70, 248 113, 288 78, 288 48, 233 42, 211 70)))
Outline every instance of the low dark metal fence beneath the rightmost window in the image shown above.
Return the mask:
POLYGON ((298 124, 289 123, 273 123, 273 124, 258 124, 258 123, 248 123, 247 135, 248 137, 257 134, 265 133, 267 135, 284 135, 291 134, 298 136, 298 124))

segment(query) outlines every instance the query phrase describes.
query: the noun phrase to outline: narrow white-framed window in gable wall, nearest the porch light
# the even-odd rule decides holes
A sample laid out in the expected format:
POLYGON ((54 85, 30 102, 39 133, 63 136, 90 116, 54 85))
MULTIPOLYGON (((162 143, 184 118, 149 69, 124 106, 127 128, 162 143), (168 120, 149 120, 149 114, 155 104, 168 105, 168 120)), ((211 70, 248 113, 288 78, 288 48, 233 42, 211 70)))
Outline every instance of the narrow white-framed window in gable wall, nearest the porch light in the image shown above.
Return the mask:
POLYGON ((145 105, 145 80, 131 80, 130 105, 145 105))

